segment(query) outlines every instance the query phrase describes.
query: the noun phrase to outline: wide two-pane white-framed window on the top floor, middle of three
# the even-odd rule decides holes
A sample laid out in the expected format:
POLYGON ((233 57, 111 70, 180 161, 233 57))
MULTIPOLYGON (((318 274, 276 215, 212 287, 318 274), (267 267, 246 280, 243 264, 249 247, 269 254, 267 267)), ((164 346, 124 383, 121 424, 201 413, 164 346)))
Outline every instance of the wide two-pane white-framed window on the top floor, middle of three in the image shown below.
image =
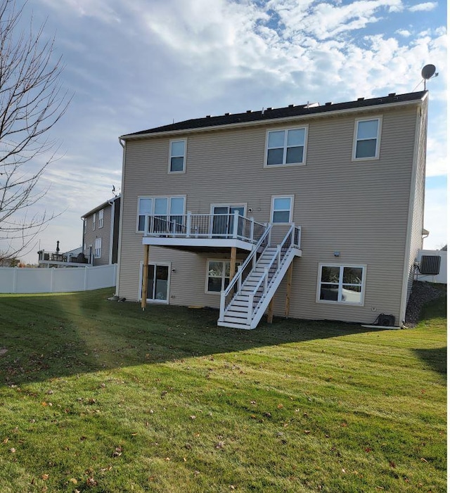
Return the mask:
POLYGON ((304 165, 308 127, 269 130, 264 167, 304 165))

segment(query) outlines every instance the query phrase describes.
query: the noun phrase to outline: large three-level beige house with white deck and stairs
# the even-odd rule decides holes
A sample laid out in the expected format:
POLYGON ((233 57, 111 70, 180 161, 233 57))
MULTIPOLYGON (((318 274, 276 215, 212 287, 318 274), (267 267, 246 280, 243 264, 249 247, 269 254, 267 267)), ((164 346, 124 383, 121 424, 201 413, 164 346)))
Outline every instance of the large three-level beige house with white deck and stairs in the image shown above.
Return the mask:
POLYGON ((116 295, 220 308, 221 326, 254 328, 266 311, 401 325, 422 248, 427 114, 420 91, 121 136, 116 295))

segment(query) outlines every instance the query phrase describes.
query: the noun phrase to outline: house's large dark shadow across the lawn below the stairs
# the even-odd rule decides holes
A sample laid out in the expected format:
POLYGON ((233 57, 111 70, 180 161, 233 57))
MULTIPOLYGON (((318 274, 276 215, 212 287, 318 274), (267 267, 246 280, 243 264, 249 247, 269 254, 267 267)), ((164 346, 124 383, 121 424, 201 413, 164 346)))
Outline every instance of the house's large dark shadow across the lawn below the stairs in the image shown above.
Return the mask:
POLYGON ((0 296, 0 385, 137 364, 241 352, 376 329, 330 321, 274 319, 255 331, 217 326, 214 309, 110 302, 110 290, 0 296))

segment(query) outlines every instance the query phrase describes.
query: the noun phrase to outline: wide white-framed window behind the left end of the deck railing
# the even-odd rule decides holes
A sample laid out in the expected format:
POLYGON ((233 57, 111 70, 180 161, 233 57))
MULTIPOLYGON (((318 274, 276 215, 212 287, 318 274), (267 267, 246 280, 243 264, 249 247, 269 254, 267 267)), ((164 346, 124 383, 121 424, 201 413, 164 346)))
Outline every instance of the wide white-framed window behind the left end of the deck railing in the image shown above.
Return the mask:
POLYGON ((172 231, 172 226, 184 224, 186 197, 139 197, 136 232, 144 231, 146 216, 154 216, 153 229, 172 231))

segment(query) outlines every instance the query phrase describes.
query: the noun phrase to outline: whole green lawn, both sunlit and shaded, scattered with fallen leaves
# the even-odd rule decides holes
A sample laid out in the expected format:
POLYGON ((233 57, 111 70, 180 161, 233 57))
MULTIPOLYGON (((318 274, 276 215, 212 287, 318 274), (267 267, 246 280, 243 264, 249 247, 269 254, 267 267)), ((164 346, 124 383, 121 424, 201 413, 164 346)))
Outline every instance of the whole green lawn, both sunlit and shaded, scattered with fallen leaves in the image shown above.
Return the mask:
POLYGON ((445 492, 446 300, 414 329, 0 295, 0 491, 445 492))

